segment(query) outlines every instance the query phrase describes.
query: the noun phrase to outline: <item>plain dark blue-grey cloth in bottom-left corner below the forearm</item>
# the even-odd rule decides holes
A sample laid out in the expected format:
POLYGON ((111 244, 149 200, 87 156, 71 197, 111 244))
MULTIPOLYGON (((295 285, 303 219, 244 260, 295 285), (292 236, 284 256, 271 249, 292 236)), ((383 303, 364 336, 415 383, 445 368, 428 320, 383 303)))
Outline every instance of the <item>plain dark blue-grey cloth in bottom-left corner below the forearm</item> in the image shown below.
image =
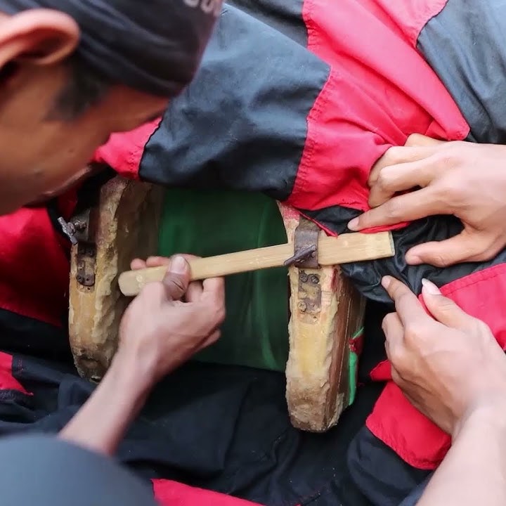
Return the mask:
POLYGON ((2 506, 155 506, 153 491, 103 455, 55 436, 0 440, 2 506))

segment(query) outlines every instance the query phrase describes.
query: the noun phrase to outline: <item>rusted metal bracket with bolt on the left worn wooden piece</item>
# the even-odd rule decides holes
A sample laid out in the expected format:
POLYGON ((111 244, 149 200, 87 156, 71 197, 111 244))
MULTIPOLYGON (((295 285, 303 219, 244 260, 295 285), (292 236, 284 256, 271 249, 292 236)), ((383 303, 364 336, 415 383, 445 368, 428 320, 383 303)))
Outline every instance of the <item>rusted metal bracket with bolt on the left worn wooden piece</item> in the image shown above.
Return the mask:
POLYGON ((77 283, 85 287, 95 285, 96 268, 96 210, 87 209, 81 214, 73 216, 70 221, 63 218, 58 219, 58 223, 67 235, 72 245, 77 246, 77 283))

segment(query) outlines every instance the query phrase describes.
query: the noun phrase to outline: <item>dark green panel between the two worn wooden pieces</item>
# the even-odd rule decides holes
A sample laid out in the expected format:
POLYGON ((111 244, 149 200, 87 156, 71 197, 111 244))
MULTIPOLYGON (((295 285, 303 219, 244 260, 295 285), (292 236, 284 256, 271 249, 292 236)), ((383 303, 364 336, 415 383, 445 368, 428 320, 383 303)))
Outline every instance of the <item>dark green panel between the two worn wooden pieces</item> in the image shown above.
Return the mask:
MULTIPOLYGON (((265 195, 167 190, 158 251, 162 256, 211 257, 286 241, 278 206, 265 195)), ((228 276, 221 339, 195 360, 284 371, 289 348, 288 293, 286 268, 228 276)))

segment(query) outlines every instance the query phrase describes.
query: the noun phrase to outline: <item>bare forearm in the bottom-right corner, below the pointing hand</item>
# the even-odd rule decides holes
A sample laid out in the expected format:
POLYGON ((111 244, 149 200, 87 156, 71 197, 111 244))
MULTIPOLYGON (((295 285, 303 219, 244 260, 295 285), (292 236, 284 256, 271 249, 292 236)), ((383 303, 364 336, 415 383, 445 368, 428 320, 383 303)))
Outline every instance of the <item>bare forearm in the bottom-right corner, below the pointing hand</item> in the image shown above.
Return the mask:
POLYGON ((506 505, 506 408, 469 417, 418 506, 506 505))

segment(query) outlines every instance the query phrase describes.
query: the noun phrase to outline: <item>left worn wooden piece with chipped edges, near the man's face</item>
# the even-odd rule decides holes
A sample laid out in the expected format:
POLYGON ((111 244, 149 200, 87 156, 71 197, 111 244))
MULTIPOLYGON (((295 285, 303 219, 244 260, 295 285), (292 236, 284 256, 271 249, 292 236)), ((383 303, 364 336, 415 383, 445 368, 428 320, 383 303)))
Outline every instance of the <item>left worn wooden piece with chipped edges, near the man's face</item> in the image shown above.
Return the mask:
POLYGON ((70 346, 79 374, 100 380, 118 343, 119 321, 129 299, 119 292, 117 278, 131 259, 157 252, 163 190, 149 183, 116 177, 100 192, 95 284, 77 282, 77 250, 70 265, 70 346))

